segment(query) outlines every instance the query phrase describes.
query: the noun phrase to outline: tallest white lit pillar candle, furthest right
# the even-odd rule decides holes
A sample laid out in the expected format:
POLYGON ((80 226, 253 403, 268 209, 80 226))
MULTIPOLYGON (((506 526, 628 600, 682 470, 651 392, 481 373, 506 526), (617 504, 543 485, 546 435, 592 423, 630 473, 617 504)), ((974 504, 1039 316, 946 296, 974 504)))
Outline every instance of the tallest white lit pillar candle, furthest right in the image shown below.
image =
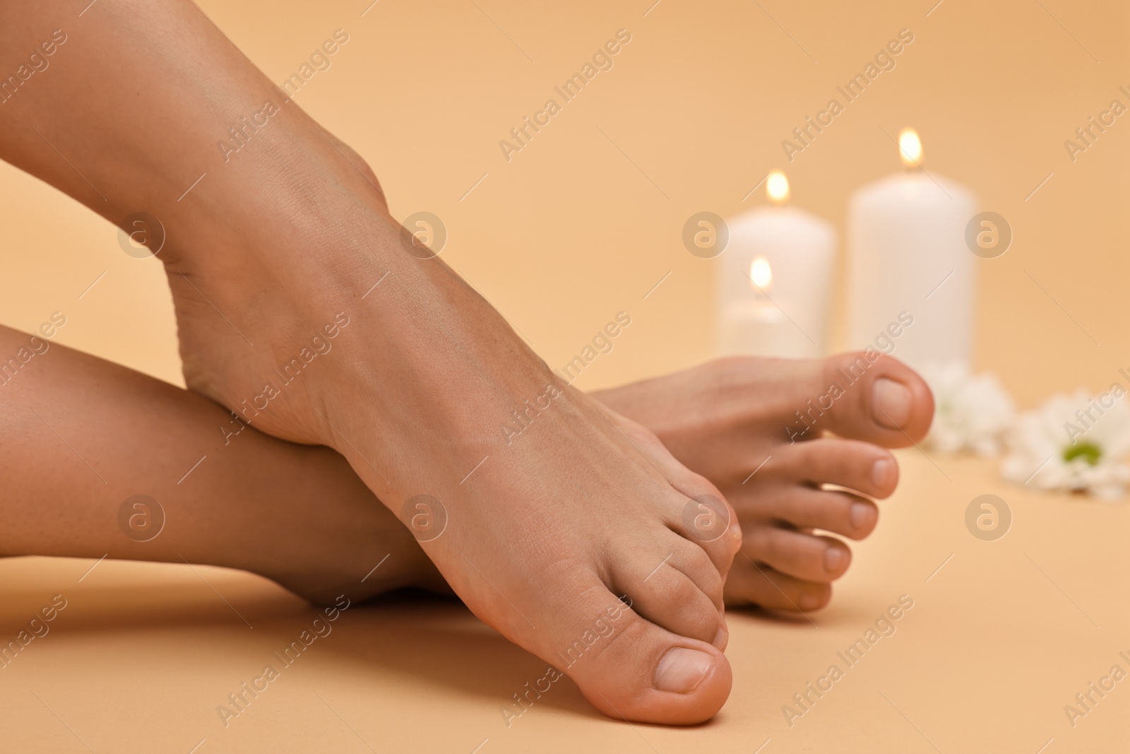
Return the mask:
POLYGON ((899 133, 898 150, 905 170, 851 199, 847 345, 892 350, 916 367, 970 365, 973 253, 965 226, 975 200, 965 188, 922 170, 914 129, 899 133), (909 318, 913 323, 904 327, 909 318))

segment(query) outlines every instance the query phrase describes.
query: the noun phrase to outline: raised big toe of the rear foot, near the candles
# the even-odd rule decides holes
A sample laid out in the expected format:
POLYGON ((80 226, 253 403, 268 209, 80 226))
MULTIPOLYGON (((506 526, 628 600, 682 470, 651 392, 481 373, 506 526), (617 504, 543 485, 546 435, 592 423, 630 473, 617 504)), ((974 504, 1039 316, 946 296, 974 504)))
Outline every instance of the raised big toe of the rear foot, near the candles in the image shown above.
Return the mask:
POLYGON ((933 419, 930 388, 898 359, 870 354, 870 358, 857 352, 824 359, 825 393, 816 402, 822 408, 831 404, 825 428, 885 448, 922 440, 933 419))

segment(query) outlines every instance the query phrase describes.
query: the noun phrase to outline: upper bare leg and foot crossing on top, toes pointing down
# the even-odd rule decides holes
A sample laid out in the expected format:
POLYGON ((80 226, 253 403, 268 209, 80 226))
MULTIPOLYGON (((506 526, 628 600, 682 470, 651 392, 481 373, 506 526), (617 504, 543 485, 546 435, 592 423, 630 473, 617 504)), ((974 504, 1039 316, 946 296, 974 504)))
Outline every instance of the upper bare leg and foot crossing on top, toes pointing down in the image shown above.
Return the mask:
MULTIPOLYGON (((5 8, 0 62, 54 29, 68 36, 50 72, 2 105, 0 156, 115 224, 160 218, 189 387, 338 450, 402 520, 418 495, 441 501, 447 528, 424 551, 544 659, 629 595, 614 641, 570 675, 612 717, 712 717, 731 683, 723 580, 741 540, 719 489, 563 384, 442 261, 409 253, 367 166, 191 3, 102 0, 81 19, 59 0, 5 8), (269 124, 221 154, 264 102, 269 124), (501 423, 547 391, 539 431, 507 442, 501 423), (730 522, 716 538, 688 523, 703 499, 730 522)), ((779 549, 765 562, 816 582, 779 549)))

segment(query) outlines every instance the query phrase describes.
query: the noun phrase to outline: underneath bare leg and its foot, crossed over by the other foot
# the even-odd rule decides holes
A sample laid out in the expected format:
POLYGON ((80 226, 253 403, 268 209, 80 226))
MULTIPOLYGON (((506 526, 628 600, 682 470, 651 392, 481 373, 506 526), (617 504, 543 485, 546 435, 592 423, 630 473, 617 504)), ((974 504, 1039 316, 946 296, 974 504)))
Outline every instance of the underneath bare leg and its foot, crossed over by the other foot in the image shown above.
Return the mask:
MULTIPOLYGON (((191 391, 41 336, 0 327, 0 437, 7 439, 0 478, 9 500, 0 552, 235 567, 314 603, 402 587, 450 593, 412 529, 376 504, 332 450, 271 437, 191 391), (119 521, 138 494, 156 500, 165 518, 145 541, 150 532, 131 538, 119 521), (44 520, 59 523, 47 528, 44 520)), ((860 494, 819 485, 887 496, 897 466, 872 442, 905 444, 928 427, 929 392, 903 364, 884 358, 857 385, 863 397, 870 389, 871 400, 845 405, 834 419, 840 433, 871 442, 816 432, 799 444, 784 442, 784 422, 794 418, 789 407, 818 384, 803 382, 816 371, 836 380, 836 370, 854 363, 850 355, 734 358, 596 393, 650 422, 688 467, 734 488, 728 495, 737 501, 745 560, 727 579, 727 606, 823 607, 847 567, 844 560, 828 569, 827 553, 846 547, 810 530, 862 539, 878 511, 860 494), (909 415, 899 413, 905 396, 881 383, 875 390, 879 379, 903 381, 909 415), (774 392, 785 408, 772 406, 774 392), (881 421, 895 414, 905 417, 906 435, 881 421), (758 460, 763 452, 768 461, 758 460)))

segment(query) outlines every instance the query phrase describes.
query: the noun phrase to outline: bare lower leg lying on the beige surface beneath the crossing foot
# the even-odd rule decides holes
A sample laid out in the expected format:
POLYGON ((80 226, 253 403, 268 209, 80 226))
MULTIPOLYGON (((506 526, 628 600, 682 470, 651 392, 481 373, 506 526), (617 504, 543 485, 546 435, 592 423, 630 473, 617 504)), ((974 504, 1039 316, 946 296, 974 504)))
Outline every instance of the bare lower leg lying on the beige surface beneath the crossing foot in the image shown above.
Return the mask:
POLYGON ((446 591, 332 450, 276 440, 195 393, 3 327, 0 358, 6 555, 221 565, 314 601, 446 591))

